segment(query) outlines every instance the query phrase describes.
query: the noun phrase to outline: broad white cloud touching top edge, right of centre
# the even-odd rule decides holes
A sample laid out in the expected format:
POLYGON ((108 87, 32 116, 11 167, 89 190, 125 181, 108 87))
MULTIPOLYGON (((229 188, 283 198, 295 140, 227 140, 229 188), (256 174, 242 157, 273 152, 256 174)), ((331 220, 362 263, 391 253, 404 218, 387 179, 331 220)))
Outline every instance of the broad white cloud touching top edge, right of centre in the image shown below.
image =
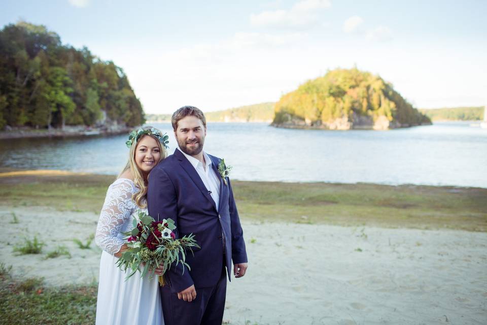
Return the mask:
POLYGON ((289 10, 267 10, 250 15, 252 26, 303 26, 318 20, 318 11, 331 6, 330 0, 302 0, 289 10))

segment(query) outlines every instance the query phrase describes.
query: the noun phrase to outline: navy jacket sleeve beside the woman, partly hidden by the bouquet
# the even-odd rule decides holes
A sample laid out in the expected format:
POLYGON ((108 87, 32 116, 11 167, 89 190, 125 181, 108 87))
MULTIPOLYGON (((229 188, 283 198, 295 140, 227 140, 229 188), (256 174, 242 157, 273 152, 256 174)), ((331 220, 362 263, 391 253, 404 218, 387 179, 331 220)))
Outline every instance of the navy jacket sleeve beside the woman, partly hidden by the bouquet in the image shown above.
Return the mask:
MULTIPOLYGON (((171 218, 175 220, 176 227, 178 226, 176 188, 162 168, 153 169, 149 175, 147 208, 149 215, 154 219, 171 218)), ((175 235, 176 238, 179 238, 178 228, 175 230, 175 235)), ((189 270, 184 269, 182 264, 172 264, 170 269, 166 271, 166 275, 170 281, 172 293, 179 293, 194 284, 189 270)))

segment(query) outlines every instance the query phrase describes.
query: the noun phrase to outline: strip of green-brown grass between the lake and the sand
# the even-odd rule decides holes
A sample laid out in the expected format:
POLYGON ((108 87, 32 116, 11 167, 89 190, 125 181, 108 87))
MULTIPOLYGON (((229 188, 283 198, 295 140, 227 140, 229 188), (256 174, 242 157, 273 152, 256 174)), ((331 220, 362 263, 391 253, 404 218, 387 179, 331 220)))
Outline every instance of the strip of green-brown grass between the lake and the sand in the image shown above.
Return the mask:
MULTIPOLYGON (((114 179, 76 174, 0 177, 0 204, 98 214, 114 179)), ((487 231, 485 188, 243 181, 232 186, 243 220, 487 231)))

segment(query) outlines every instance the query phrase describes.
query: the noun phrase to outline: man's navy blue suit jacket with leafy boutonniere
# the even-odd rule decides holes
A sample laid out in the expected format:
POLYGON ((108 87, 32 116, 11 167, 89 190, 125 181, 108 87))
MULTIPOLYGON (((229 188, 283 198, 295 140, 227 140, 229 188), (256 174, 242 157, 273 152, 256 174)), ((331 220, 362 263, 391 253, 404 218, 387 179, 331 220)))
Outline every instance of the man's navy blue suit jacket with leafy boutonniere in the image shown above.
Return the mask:
POLYGON ((156 220, 175 220, 177 238, 192 233, 201 246, 201 249, 193 249, 194 256, 189 251, 186 254, 186 263, 191 271, 185 268, 183 273, 180 264, 166 272, 172 293, 193 284, 195 287, 216 285, 222 274, 224 251, 229 279, 232 260, 233 264, 247 263, 243 232, 230 180, 227 177, 228 185, 225 185, 217 170, 220 158, 208 156, 215 173, 220 177, 218 211, 193 165, 179 149, 162 160, 149 175, 149 215, 156 220))

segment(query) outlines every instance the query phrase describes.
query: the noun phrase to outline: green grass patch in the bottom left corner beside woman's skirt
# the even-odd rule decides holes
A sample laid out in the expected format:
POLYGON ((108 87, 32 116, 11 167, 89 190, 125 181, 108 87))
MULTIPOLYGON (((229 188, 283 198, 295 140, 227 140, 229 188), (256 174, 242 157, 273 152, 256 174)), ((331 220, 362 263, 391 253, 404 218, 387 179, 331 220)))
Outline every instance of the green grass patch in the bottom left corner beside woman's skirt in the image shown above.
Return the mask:
POLYGON ((2 272, 0 324, 94 324, 96 295, 96 286, 45 288, 42 278, 13 280, 2 272))

